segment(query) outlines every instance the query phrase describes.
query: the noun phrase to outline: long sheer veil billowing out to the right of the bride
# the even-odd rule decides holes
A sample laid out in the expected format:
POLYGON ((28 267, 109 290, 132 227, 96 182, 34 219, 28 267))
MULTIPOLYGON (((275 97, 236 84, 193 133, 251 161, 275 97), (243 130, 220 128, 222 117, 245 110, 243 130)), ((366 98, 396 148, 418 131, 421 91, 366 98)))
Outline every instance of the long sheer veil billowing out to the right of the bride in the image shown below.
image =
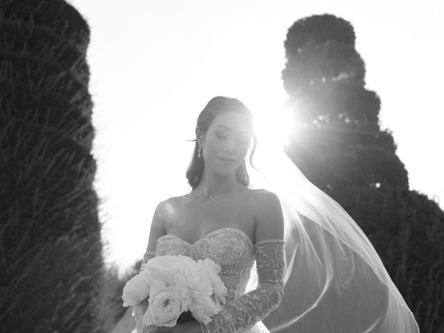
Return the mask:
MULTIPOLYGON (((257 146, 253 188, 278 194, 285 223, 284 297, 272 333, 413 333, 418 324, 357 223, 311 184, 282 148, 257 146)), ((270 221, 273 223, 273 221, 270 221)), ((255 267, 247 291, 257 285, 255 267)))

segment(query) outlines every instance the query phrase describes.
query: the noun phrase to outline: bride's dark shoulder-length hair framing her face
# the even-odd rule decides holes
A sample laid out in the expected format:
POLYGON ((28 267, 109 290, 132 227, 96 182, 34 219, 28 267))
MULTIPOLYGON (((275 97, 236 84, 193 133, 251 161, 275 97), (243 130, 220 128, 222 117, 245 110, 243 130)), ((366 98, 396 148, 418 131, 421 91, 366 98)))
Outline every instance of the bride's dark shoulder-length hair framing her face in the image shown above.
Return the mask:
MULTIPOLYGON (((257 145, 257 137, 253 132, 253 116, 251 115, 250 110, 238 99, 231 99, 229 97, 217 96, 211 99, 205 108, 203 108, 202 112, 200 112, 199 117, 196 123, 196 138, 198 136, 198 129, 200 133, 207 133, 208 128, 210 127, 214 118, 223 112, 239 112, 240 114, 245 114, 248 119, 250 119, 250 127, 251 127, 251 137, 253 138, 253 148, 250 153, 250 164, 253 165, 253 155, 255 153, 256 145, 257 145)), ((195 189, 200 180, 202 180, 204 162, 203 157, 198 157, 198 142, 197 139, 193 140, 196 142, 194 146, 194 153, 191 159, 191 163, 187 169, 187 179, 189 185, 191 185, 192 189, 195 189)), ((241 182, 241 184, 249 186, 250 185, 250 177, 248 176, 245 161, 242 163, 239 168, 236 170, 236 179, 241 182)))

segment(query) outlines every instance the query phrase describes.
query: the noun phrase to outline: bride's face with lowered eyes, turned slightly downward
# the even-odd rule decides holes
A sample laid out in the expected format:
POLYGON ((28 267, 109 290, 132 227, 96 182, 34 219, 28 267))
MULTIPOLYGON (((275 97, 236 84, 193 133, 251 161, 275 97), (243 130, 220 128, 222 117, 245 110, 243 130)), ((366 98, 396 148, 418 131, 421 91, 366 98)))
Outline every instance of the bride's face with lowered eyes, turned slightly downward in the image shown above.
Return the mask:
POLYGON ((230 176, 244 162, 250 145, 250 122, 237 112, 223 112, 212 121, 202 139, 205 169, 230 176))

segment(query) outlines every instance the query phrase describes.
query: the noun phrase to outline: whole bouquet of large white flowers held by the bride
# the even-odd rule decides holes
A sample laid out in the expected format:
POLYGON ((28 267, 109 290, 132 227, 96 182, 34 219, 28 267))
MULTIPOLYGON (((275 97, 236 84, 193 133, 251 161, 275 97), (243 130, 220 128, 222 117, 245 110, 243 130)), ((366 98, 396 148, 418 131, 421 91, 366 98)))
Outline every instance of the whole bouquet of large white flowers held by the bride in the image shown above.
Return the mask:
POLYGON ((195 262, 184 255, 153 257, 126 282, 123 307, 133 306, 133 315, 143 316, 145 325, 172 327, 187 311, 206 325, 226 302, 220 272, 221 266, 209 258, 195 262))

